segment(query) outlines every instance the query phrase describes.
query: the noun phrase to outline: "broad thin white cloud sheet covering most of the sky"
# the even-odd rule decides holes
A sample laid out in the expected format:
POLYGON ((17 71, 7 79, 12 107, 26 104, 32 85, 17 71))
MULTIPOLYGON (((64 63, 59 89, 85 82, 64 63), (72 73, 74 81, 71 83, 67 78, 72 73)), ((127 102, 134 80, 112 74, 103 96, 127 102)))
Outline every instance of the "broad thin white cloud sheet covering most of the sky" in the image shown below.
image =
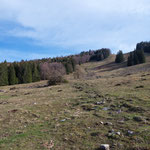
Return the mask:
POLYGON ((8 33, 33 38, 40 45, 128 51, 150 34, 149 0, 0 0, 0 4, 0 19, 34 29, 8 33))

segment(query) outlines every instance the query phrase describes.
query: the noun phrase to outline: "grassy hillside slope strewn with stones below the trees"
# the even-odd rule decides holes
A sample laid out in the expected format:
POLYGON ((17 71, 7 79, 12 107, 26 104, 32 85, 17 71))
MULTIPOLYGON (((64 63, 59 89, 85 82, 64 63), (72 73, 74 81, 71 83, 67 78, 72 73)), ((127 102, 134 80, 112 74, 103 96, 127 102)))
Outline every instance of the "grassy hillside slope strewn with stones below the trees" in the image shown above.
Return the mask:
POLYGON ((1 87, 0 149, 149 150, 150 62, 114 59, 78 66, 67 84, 1 87))

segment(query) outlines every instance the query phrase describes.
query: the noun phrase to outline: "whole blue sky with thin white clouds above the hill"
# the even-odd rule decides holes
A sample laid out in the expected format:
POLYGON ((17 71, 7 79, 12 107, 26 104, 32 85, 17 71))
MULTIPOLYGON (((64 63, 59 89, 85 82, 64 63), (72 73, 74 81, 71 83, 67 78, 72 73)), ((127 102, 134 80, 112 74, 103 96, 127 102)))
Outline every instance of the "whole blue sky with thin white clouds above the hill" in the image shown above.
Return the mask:
POLYGON ((0 61, 150 41, 149 0, 0 0, 0 61))

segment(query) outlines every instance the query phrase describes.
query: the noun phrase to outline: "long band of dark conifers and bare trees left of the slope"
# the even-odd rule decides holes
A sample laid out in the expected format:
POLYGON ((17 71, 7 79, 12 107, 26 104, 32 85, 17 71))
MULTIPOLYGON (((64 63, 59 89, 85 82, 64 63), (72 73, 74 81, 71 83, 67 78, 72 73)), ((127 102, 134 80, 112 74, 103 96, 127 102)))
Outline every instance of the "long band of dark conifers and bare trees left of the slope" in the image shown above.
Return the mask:
POLYGON ((110 55, 109 49, 89 50, 78 55, 44 58, 33 61, 0 63, 0 86, 37 82, 61 77, 76 70, 76 65, 89 61, 100 61, 110 55))

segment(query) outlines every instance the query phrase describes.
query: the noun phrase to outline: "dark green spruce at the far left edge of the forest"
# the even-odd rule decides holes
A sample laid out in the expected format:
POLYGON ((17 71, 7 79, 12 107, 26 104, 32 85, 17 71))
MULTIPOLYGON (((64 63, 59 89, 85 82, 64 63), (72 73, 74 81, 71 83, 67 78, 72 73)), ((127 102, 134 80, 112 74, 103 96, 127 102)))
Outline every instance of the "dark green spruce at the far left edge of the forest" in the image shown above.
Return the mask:
POLYGON ((0 64, 0 86, 8 85, 8 67, 7 62, 0 64))

